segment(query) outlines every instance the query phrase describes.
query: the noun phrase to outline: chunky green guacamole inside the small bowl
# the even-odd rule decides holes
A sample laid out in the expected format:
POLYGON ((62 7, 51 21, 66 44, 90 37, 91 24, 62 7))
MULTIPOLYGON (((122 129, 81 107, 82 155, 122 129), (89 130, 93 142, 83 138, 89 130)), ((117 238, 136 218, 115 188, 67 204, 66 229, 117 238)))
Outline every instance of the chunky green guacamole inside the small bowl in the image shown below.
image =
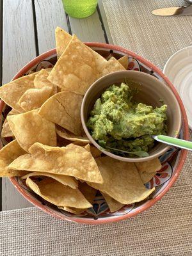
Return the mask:
POLYGON ((129 83, 112 85, 97 99, 87 126, 100 147, 120 156, 148 156, 151 135, 166 134, 167 106, 153 108, 135 102, 129 83))

